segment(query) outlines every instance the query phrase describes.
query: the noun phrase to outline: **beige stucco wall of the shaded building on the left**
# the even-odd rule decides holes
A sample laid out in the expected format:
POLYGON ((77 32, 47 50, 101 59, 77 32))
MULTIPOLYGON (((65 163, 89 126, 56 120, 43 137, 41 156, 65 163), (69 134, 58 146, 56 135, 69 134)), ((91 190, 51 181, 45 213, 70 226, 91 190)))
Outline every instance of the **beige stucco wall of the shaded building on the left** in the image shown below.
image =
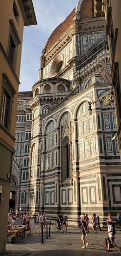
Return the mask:
MULTIPOLYGON (((27 4, 31 4, 28 1, 27 4)), ((0 233, 0 252, 6 249, 6 235, 7 235, 7 223, 8 223, 8 208, 9 208, 9 198, 11 181, 11 168, 12 168, 12 154, 14 152, 14 136, 15 136, 15 123, 16 123, 16 111, 17 111, 17 97, 18 97, 18 86, 19 86, 19 72, 21 66, 21 54, 22 54, 22 42, 23 42, 23 30, 24 25, 36 24, 36 19, 34 16, 34 9, 31 7, 33 23, 27 23, 26 13, 23 15, 21 9, 22 1, 17 0, 4 0, 0 1, 0 115, 1 107, 3 101, 3 74, 9 80, 9 84, 14 91, 14 96, 12 98, 12 109, 10 116, 10 127, 9 130, 5 128, 4 125, 0 123, 0 188, 2 188, 2 193, 0 195, 0 219, 1 219, 1 233, 0 233), (18 11, 18 22, 15 19, 13 13, 13 3, 15 3, 18 11), (11 34, 11 26, 13 30, 13 35, 17 39, 17 50, 16 50, 16 61, 14 67, 10 64, 8 60, 8 49, 9 40, 11 34)), ((0 116, 1 117, 1 116, 0 116)), ((0 119, 1 122, 1 119, 0 119)))

